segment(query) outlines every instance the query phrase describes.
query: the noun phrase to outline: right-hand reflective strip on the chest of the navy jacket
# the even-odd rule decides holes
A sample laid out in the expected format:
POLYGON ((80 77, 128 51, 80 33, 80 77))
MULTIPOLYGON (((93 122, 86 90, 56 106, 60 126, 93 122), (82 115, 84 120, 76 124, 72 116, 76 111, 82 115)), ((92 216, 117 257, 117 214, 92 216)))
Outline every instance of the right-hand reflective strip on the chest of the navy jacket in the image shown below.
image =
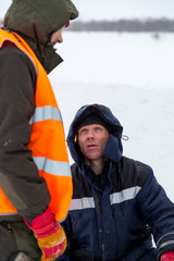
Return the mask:
POLYGON ((121 203, 126 200, 134 199, 137 196, 137 194, 140 191, 140 189, 141 187, 136 186, 136 187, 123 189, 120 192, 112 194, 110 196, 111 204, 121 203))

